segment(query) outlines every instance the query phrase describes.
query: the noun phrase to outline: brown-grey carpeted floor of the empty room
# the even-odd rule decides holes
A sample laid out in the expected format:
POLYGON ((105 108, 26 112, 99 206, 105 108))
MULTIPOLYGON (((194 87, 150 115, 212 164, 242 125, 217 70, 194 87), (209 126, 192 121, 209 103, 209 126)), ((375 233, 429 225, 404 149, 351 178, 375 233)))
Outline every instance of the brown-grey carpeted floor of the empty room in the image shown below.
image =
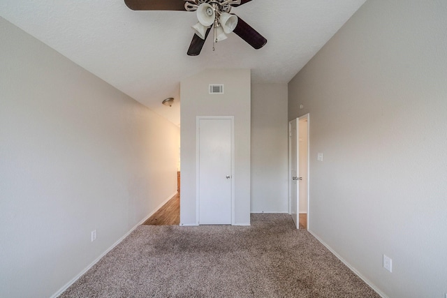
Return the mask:
POLYGON ((379 297, 287 214, 140 225, 59 297, 379 297))

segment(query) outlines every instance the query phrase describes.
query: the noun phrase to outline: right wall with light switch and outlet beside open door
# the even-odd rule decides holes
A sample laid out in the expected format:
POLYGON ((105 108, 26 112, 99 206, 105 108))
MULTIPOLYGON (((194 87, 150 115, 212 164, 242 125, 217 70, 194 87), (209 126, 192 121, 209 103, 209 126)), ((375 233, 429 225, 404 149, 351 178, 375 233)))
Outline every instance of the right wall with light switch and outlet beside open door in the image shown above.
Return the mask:
POLYGON ((447 292, 446 15, 367 1, 289 84, 289 119, 311 118, 309 226, 388 297, 447 292))

